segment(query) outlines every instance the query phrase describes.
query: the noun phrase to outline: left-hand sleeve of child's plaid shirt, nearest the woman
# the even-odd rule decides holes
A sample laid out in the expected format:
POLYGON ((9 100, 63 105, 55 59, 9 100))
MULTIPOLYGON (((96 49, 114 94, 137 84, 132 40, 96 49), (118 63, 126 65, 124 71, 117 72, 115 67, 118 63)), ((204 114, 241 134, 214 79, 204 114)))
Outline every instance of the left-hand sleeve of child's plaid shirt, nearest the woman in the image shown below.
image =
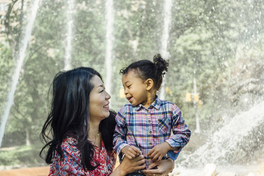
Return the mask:
POLYGON ((116 151, 117 155, 120 156, 121 150, 128 146, 128 142, 126 140, 126 134, 128 132, 127 124, 126 124, 126 117, 125 117, 125 106, 119 110, 116 114, 115 121, 116 126, 113 135, 113 149, 116 151))

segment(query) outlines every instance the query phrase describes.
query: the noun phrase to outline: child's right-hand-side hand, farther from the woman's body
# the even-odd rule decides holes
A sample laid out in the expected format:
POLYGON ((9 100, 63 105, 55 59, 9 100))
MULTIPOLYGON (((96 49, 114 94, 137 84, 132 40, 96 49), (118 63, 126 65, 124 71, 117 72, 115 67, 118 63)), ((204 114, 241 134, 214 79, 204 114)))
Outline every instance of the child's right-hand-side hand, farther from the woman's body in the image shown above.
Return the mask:
POLYGON ((162 157, 171 149, 172 148, 168 142, 163 142, 152 148, 147 156, 150 156, 153 161, 160 161, 162 157))

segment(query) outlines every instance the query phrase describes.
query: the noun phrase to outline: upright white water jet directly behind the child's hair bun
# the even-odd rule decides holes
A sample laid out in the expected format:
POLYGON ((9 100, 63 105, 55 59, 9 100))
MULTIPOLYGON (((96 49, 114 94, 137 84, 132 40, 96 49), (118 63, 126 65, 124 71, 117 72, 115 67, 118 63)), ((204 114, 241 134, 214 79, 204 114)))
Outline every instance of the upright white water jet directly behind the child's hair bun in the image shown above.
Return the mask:
MULTIPOLYGON (((172 21, 172 0, 165 0, 164 3, 164 28, 162 32, 162 38, 161 38, 161 56, 165 59, 169 58, 170 53, 167 51, 168 41, 169 41, 169 26, 172 21)), ((166 77, 164 75, 162 86, 160 89, 160 99, 165 99, 165 84, 166 84, 166 77)))

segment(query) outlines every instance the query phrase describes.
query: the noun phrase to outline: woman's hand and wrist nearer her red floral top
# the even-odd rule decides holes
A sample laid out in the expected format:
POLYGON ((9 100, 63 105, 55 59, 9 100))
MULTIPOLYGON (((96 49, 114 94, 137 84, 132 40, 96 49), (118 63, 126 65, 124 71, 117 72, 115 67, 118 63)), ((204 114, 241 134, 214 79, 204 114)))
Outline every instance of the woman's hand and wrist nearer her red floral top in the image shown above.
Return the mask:
POLYGON ((144 169, 146 167, 145 162, 146 159, 144 159, 144 155, 138 155, 132 159, 125 156, 121 164, 117 166, 110 176, 126 176, 136 170, 144 169))

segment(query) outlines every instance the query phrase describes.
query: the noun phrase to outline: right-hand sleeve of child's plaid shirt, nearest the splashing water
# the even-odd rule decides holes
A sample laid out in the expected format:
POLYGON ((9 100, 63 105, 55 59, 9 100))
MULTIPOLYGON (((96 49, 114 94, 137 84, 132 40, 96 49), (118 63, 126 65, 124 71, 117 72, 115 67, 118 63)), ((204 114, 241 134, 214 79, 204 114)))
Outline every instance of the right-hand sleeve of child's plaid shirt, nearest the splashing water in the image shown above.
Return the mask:
POLYGON ((173 121, 172 130, 173 135, 166 140, 171 147, 175 148, 169 151, 167 154, 173 160, 175 160, 180 153, 181 149, 189 142, 191 131, 188 126, 184 123, 184 119, 181 116, 181 111, 176 105, 173 105, 173 121))

